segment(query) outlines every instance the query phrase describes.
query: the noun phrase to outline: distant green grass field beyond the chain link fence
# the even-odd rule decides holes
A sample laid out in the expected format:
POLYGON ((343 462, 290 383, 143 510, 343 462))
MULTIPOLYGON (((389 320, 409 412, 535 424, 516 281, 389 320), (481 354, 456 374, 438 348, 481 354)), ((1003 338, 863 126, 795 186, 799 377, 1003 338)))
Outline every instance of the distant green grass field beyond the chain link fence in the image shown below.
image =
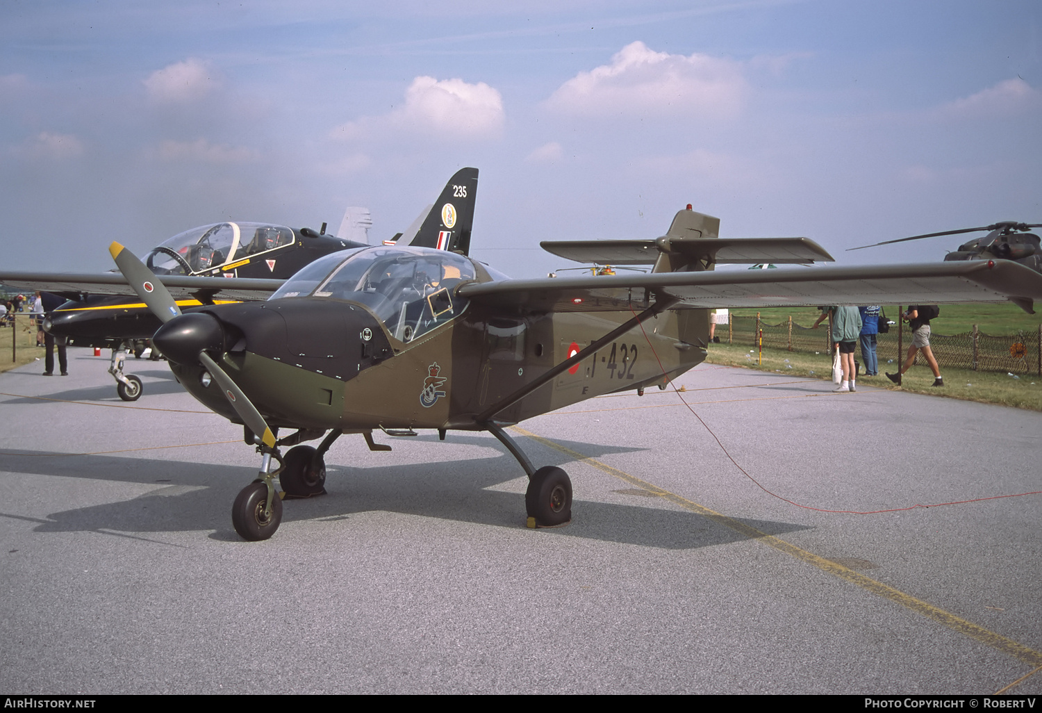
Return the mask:
MULTIPOLYGON (((908 305, 904 305, 908 306, 908 305)), ((889 319, 897 321, 896 304, 884 306, 889 319)), ((792 315, 792 321, 801 326, 811 326, 820 314, 816 308, 771 308, 769 310, 731 310, 736 317, 755 317, 768 324, 780 324, 792 315)), ((941 316, 931 321, 931 330, 936 335, 961 335, 973 330, 976 324, 981 331, 992 336, 1015 335, 1020 331, 1036 333, 1042 323, 1042 313, 1028 315, 1015 304, 942 304, 941 316)))

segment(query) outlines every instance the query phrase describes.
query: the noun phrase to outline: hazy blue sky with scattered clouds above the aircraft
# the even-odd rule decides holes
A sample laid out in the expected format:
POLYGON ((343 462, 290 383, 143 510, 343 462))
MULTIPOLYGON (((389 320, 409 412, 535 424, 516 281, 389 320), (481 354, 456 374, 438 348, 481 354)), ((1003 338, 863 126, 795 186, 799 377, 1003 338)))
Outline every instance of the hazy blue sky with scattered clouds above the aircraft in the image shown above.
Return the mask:
POLYGON ((480 169, 473 254, 540 240, 807 236, 940 260, 1042 222, 1037 0, 0 2, 0 261, 105 270, 239 219, 402 230, 480 169))

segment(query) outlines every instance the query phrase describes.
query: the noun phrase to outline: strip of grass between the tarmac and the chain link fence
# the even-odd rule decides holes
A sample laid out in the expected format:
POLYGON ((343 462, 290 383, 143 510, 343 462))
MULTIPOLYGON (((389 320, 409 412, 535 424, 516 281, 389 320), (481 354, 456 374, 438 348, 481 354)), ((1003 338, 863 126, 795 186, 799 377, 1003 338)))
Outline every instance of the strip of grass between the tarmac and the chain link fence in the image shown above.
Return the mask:
MULTIPOLYGON (((860 358, 860 354, 858 357, 860 358)), ((824 351, 815 354, 784 349, 764 349, 763 363, 760 364, 756 351, 750 351, 747 346, 711 344, 705 361, 711 364, 772 371, 794 376, 811 376, 812 378, 825 379, 832 384, 833 362, 828 353, 824 351)), ((912 367, 904 374, 902 386, 897 387, 884 375, 887 371, 896 372, 897 364, 880 363, 878 376, 863 377, 858 384, 862 387, 900 388, 903 391, 929 394, 931 396, 1042 411, 1042 378, 1037 376, 1021 375, 1019 378, 1014 378, 1001 372, 945 368, 941 372, 944 376, 944 386, 935 388, 932 386, 934 374, 929 367, 923 365, 912 367)))

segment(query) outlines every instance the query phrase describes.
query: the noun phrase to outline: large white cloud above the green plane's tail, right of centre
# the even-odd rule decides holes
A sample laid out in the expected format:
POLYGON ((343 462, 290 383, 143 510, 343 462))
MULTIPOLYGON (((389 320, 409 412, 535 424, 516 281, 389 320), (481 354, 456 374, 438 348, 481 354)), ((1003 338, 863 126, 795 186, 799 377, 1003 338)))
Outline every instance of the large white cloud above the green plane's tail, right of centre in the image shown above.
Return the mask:
POLYGON ((612 57, 612 64, 566 81, 546 105, 574 116, 653 113, 724 118, 739 110, 746 89, 738 62, 655 52, 634 42, 612 57))

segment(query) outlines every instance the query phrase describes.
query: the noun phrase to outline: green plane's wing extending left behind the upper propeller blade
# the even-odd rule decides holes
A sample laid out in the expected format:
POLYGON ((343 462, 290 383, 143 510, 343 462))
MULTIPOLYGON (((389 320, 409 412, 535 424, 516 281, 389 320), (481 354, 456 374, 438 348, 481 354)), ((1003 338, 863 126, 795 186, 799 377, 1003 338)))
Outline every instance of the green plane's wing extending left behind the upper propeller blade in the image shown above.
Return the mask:
MULTIPOLYGON (((162 281, 175 299, 200 296, 213 299, 258 300, 267 299, 282 286, 281 279, 256 279, 250 277, 194 277, 187 275, 159 275, 162 281)), ((126 279, 118 272, 70 273, 70 272, 0 272, 0 284, 26 292, 51 292, 73 298, 89 293, 94 295, 134 296, 126 279)), ((200 300, 205 301, 205 300, 200 300)))

